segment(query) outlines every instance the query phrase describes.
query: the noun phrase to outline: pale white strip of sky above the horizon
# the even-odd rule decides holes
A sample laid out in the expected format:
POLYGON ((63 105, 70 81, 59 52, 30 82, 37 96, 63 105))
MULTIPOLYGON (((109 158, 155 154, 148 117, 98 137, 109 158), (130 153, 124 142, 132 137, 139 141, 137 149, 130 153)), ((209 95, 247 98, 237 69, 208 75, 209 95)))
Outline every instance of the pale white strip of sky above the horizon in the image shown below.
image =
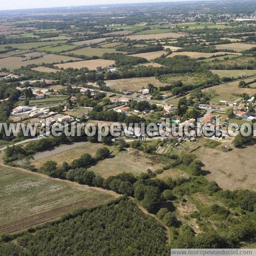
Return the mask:
MULTIPOLYGON (((175 0, 8 0, 8 1, 4 1, 4 3, 1 4, 0 10, 17 10, 17 9, 101 5, 101 4, 154 3, 154 2, 172 2, 172 1, 175 1, 175 0)), ((182 0, 176 0, 176 1, 182 1, 182 0)))

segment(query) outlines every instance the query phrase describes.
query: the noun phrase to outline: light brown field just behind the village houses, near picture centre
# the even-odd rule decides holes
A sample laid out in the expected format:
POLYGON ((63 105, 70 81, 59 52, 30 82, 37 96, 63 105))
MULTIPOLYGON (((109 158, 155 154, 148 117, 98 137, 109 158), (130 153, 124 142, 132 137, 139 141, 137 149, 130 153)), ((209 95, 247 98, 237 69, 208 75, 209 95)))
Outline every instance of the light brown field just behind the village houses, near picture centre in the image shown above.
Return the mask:
POLYGON ((138 91, 143 87, 146 88, 148 83, 157 87, 166 86, 166 83, 158 81, 155 77, 124 78, 116 80, 106 80, 106 86, 117 91, 138 91))

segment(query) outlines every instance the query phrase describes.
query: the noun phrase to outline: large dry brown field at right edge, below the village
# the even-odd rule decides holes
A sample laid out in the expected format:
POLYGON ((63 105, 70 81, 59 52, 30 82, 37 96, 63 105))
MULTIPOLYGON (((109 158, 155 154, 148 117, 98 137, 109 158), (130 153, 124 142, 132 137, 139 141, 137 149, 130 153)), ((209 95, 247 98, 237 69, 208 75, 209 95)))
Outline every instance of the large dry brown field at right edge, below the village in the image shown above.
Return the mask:
POLYGON ((246 148, 233 148, 230 152, 201 147, 193 154, 205 164, 204 170, 210 174, 206 178, 216 181, 223 189, 251 189, 256 190, 255 160, 256 145, 246 148), (236 161, 234 161, 236 159, 236 161))

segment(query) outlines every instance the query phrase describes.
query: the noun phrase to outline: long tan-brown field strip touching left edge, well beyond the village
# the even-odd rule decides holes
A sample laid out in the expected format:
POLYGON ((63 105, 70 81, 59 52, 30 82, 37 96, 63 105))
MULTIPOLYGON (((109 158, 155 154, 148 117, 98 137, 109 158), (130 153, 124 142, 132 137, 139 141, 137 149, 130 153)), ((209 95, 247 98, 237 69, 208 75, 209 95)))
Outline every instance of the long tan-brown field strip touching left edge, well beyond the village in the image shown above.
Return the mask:
POLYGON ((22 66, 27 66, 31 64, 41 65, 42 63, 58 63, 61 61, 68 61, 68 60, 80 60, 79 58, 63 56, 63 55, 55 55, 55 54, 47 54, 42 56, 41 58, 31 59, 31 60, 24 60, 21 57, 8 57, 0 59, 0 66, 3 68, 7 68, 10 70, 19 69, 22 66))

